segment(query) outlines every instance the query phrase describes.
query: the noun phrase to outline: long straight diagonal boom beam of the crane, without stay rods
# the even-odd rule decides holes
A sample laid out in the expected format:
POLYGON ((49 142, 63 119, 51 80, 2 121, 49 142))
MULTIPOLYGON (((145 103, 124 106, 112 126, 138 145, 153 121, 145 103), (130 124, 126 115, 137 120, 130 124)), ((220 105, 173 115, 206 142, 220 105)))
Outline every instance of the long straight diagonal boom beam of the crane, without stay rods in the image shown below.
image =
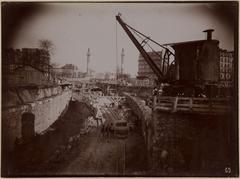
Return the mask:
POLYGON ((137 39, 134 37, 134 35, 131 33, 131 31, 128 29, 127 25, 123 22, 120 15, 116 16, 116 20, 118 23, 122 26, 122 28, 127 33, 128 37, 132 40, 138 51, 141 53, 143 58, 146 60, 147 64, 150 66, 150 68, 153 70, 153 72, 156 74, 159 81, 163 79, 163 73, 158 68, 158 66, 154 63, 152 58, 148 55, 148 53, 144 50, 144 48, 141 46, 141 44, 137 41, 137 39))

